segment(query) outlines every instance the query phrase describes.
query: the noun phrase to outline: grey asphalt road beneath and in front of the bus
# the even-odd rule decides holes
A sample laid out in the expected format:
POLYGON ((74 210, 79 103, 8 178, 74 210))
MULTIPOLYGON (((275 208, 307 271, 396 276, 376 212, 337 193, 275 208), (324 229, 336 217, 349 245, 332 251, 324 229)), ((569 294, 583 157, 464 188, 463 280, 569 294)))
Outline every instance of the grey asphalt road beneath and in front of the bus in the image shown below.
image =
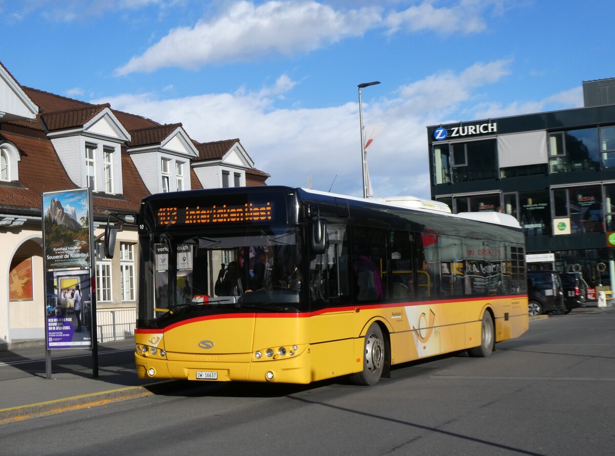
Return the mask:
POLYGON ((172 382, 2 425, 0 454, 611 455, 614 389, 615 309, 582 309, 488 358, 406 364, 374 387, 172 382))

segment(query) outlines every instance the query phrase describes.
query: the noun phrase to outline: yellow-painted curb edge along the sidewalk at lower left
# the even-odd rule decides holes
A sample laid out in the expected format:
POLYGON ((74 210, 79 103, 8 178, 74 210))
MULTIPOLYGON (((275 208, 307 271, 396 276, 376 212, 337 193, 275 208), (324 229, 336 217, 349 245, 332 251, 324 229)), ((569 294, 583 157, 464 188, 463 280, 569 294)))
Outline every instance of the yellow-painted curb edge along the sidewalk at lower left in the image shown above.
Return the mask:
POLYGON ((155 393, 145 387, 126 387, 116 390, 100 391, 70 398, 56 399, 54 401, 28 404, 25 406, 0 409, 0 425, 33 418, 45 417, 90 407, 153 396, 155 393))

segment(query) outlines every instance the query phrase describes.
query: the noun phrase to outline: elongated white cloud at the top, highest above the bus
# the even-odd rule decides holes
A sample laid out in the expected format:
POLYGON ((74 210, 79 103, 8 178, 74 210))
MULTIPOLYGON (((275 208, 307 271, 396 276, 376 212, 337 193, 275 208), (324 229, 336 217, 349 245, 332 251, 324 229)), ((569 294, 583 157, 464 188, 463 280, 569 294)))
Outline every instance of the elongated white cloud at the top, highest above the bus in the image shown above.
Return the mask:
POLYGON ((277 53, 309 52, 349 36, 360 36, 381 21, 378 8, 339 12, 316 1, 240 1, 212 20, 172 29, 135 56, 116 75, 178 66, 256 60, 277 53))

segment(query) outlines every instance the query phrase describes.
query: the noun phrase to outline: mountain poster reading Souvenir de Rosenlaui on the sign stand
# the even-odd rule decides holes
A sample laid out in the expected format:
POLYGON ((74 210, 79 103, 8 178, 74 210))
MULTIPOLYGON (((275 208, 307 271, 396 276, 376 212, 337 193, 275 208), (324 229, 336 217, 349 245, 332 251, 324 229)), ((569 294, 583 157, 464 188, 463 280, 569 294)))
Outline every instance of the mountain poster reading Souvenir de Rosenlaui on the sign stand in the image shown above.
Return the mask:
POLYGON ((88 189, 42 194, 45 269, 90 267, 88 189))

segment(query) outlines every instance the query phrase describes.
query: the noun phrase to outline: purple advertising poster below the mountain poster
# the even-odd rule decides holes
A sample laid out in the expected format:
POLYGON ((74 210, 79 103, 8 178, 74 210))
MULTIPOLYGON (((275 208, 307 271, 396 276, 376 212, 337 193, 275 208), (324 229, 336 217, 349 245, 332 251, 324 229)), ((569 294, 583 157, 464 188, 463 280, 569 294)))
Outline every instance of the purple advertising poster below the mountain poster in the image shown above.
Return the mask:
POLYGON ((84 348, 92 344, 92 289, 86 270, 47 271, 47 348, 84 348))

